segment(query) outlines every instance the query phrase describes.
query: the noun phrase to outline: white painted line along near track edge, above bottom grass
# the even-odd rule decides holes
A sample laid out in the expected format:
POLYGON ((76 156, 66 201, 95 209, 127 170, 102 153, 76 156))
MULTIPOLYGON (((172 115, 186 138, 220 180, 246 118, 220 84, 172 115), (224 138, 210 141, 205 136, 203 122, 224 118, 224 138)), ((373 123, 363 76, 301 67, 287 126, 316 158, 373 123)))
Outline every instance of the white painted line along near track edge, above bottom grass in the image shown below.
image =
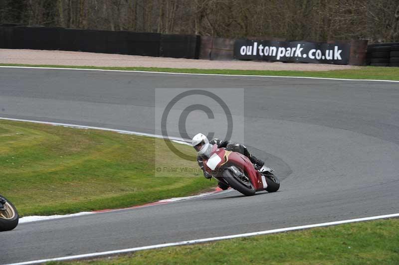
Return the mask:
POLYGON ((100 257, 100 256, 107 256, 107 255, 115 255, 115 254, 122 254, 122 253, 141 251, 141 250, 151 250, 151 249, 159 249, 159 248, 165 248, 165 247, 182 246, 182 245, 189 245, 189 244, 196 244, 196 243, 205 243, 205 242, 212 242, 212 241, 218 241, 218 240, 223 240, 223 239, 253 237, 253 236, 259 236, 259 235, 267 235, 267 234, 273 234, 273 233, 281 233, 281 232, 288 232, 288 231, 294 231, 294 230, 303 230, 303 229, 309 229, 309 228, 315 228, 315 227, 333 226, 333 225, 355 223, 355 222, 363 222, 363 221, 371 221, 371 220, 376 220, 376 219, 386 219, 386 218, 393 218, 393 217, 399 217, 399 213, 372 216, 372 217, 365 217, 365 218, 357 218, 357 219, 350 219, 350 220, 343 220, 343 221, 336 221, 336 222, 329 222, 329 223, 321 223, 321 224, 314 224, 314 225, 287 227, 287 228, 266 230, 266 231, 246 233, 246 234, 237 234, 237 235, 224 236, 224 237, 195 239, 195 240, 181 241, 181 242, 175 242, 175 243, 166 243, 166 244, 159 244, 159 245, 151 245, 151 246, 145 246, 145 247, 124 249, 124 250, 97 252, 97 253, 89 253, 89 254, 68 256, 68 257, 59 257, 59 258, 53 258, 53 259, 45 259, 45 260, 13 263, 13 264, 8 264, 8 265, 29 265, 29 264, 38 264, 38 263, 45 263, 45 262, 57 262, 57 261, 77 260, 77 259, 88 259, 88 258, 96 258, 96 257, 100 257))

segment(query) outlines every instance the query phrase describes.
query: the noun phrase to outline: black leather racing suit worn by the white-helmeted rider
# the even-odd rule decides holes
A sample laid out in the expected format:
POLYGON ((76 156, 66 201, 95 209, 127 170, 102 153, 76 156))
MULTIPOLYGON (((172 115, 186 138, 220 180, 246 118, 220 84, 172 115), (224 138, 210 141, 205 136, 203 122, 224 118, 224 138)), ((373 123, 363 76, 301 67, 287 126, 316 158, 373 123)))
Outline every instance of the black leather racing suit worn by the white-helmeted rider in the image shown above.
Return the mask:
MULTIPOLYGON (((262 167, 264 165, 264 163, 265 163, 262 160, 256 158, 254 155, 251 155, 249 153, 248 149, 246 148, 246 146, 243 145, 243 144, 235 143, 235 142, 231 142, 231 141, 223 141, 223 140, 220 140, 220 139, 217 139, 217 138, 211 139, 209 141, 209 143, 210 144, 217 144, 218 148, 224 147, 226 150, 233 151, 233 152, 239 152, 239 153, 245 155, 246 157, 248 157, 249 160, 251 160, 251 162, 253 164, 256 164, 258 167, 262 167)), ((208 172, 203 170, 203 161, 202 160, 203 160, 202 157, 200 155, 198 155, 197 156, 197 162, 198 162, 198 164, 200 165, 200 168, 203 171, 203 176, 205 178, 210 179, 212 176, 208 172)), ((219 183, 219 184, 223 184, 223 183, 219 183)), ((220 185, 219 185, 219 187, 220 187, 220 185)), ((220 188, 223 189, 223 187, 220 187, 220 188)))

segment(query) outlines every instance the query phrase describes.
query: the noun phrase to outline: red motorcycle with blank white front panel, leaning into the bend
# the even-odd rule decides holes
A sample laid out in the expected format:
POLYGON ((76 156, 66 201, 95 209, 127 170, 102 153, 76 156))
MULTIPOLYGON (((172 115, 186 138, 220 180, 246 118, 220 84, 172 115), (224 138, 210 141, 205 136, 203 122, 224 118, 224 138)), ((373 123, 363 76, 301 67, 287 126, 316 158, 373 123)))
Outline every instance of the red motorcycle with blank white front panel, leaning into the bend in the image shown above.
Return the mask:
POLYGON ((271 173, 273 169, 264 167, 260 172, 245 155, 217 148, 216 144, 209 158, 203 160, 203 165, 203 169, 212 177, 245 196, 255 195, 255 192, 262 190, 275 192, 280 188, 279 179, 271 173))

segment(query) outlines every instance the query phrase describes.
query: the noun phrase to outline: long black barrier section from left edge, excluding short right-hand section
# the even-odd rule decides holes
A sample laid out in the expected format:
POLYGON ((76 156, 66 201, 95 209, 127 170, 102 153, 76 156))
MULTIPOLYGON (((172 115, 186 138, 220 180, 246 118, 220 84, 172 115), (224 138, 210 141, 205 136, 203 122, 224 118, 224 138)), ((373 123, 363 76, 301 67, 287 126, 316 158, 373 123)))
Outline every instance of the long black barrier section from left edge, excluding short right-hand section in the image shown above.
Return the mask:
POLYGON ((0 48, 159 56, 161 34, 49 27, 0 27, 0 48))

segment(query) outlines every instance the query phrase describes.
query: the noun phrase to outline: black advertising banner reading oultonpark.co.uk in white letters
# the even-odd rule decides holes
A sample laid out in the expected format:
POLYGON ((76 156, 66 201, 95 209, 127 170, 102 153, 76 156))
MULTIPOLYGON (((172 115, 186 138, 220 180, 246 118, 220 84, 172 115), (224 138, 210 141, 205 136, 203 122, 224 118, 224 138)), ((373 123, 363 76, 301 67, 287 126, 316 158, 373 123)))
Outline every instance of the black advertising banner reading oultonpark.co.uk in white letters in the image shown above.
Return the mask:
POLYGON ((351 45, 306 41, 236 40, 234 59, 348 64, 351 45))

